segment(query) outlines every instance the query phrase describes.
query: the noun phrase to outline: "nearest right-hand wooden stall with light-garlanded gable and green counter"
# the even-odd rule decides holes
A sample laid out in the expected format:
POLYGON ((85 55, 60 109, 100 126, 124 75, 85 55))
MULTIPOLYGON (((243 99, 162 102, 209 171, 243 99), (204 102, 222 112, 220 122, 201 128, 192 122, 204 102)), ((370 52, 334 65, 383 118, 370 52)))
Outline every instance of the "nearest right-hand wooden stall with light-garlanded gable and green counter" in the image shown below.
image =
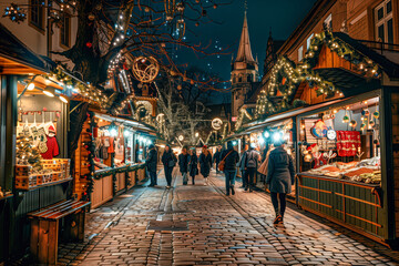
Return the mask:
POLYGON ((262 119, 239 134, 265 142, 291 120, 297 205, 398 248, 399 65, 340 32, 315 34, 310 48, 298 64, 276 62, 262 119))

